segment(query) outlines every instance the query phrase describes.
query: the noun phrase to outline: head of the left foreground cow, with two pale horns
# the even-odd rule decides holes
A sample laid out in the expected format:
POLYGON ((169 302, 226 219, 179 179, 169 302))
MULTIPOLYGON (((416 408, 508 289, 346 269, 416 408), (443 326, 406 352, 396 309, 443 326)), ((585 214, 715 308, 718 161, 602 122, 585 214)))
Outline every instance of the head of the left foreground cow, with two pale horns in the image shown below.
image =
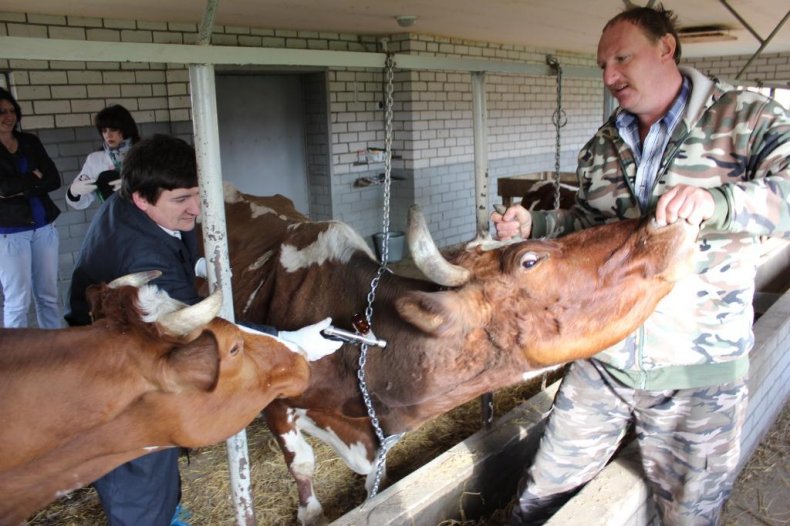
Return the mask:
MULTIPOLYGON (((124 276, 94 287, 88 298, 92 312, 111 315, 106 319, 114 323, 121 319, 135 323, 137 330, 160 343, 158 364, 151 369, 149 380, 162 393, 191 390, 190 403, 200 401, 201 407, 190 411, 184 399, 177 400, 171 408, 173 417, 185 410, 196 416, 174 428, 169 442, 197 447, 207 440, 222 440, 244 427, 238 422, 252 420, 272 398, 293 396, 305 389, 307 364, 289 344, 216 317, 222 306, 220 290, 187 306, 146 285, 159 275, 151 271, 124 276), (129 316, 129 312, 136 314, 129 316), (234 404, 234 396, 245 400, 234 404), (207 411, 212 405, 216 412, 207 411), (243 418, 234 413, 236 406, 244 408, 243 418), (227 425, 223 420, 229 420, 227 425)), ((157 410, 166 405, 157 402, 157 410)))

